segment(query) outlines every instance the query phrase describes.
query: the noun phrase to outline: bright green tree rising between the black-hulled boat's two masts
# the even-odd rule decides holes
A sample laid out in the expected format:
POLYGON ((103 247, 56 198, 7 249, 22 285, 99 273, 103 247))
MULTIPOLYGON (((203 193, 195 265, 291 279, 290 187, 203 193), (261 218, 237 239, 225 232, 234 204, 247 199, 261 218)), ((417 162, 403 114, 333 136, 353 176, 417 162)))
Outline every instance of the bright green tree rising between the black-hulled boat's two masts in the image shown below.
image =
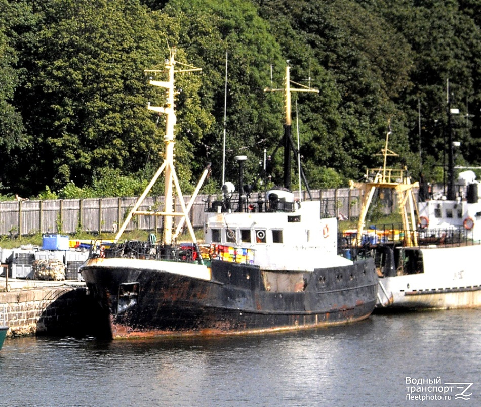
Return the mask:
MULTIPOLYGON (((218 180, 222 177, 227 52, 226 179, 237 178, 233 157, 247 154, 246 172, 251 175, 246 182, 252 182, 262 150, 271 148, 274 138, 282 134, 282 102, 278 99, 273 103, 263 92, 270 83, 270 64, 282 64, 275 38, 252 2, 246 0, 173 0, 164 11, 179 21, 179 48, 203 68, 199 95, 203 110, 212 116, 199 113, 195 123, 180 113, 190 126, 188 143, 193 147, 196 172, 211 161, 214 176, 218 180)), ((180 142, 187 144, 182 139, 180 142)))

